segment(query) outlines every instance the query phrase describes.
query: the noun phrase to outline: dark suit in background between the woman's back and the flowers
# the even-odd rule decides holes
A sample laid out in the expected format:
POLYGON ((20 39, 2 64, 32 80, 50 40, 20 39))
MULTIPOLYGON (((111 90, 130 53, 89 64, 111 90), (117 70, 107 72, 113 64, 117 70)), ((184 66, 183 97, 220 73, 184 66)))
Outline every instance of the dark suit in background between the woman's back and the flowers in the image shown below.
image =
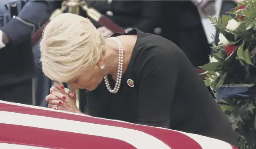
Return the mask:
POLYGON ((176 43, 194 67, 209 62, 208 44, 197 7, 190 0, 164 1, 162 36, 176 43))

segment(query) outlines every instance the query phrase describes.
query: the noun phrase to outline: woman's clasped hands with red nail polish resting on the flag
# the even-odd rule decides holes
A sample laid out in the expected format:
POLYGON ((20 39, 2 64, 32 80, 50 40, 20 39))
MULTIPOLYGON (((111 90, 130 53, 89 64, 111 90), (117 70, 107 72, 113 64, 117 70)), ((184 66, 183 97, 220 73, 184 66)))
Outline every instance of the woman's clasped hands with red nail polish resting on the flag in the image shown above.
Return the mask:
POLYGON ((56 81, 53 87, 50 88, 50 94, 46 96, 46 101, 49 103, 48 108, 79 113, 76 107, 76 94, 75 91, 65 92, 62 83, 56 81))

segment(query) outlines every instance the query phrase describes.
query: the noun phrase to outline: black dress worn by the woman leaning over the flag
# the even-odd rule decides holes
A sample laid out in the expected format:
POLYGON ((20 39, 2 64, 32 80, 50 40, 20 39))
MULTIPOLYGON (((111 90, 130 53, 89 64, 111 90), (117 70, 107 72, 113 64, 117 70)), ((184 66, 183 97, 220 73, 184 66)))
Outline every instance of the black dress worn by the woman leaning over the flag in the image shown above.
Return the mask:
MULTIPOLYGON (((87 92, 88 114, 197 133, 236 145, 228 118, 183 51, 165 38, 138 29, 123 35, 131 34, 137 34, 137 42, 119 92, 110 93, 103 80, 87 92)), ((115 82, 108 78, 113 88, 115 82)))

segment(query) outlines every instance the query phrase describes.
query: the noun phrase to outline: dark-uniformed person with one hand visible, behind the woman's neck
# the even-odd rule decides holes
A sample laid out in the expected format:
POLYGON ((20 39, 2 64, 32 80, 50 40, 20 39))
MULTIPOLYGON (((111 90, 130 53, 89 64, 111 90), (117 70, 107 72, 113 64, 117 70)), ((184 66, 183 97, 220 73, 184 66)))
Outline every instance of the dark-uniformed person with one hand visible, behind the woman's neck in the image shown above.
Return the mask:
MULTIPOLYGON (((93 7, 123 29, 137 28, 146 33, 154 33, 157 27, 161 1, 151 0, 86 0, 89 7, 93 7)), ((86 14, 81 14, 86 16, 86 14)), ((113 34, 106 27, 94 22, 101 34, 108 38, 113 34)))

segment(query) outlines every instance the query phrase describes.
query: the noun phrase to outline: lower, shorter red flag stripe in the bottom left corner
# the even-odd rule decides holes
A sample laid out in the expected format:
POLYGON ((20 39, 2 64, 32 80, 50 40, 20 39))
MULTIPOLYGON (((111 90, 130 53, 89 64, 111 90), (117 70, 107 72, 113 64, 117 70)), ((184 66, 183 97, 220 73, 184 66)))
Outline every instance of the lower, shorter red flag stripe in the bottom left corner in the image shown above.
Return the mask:
POLYGON ((122 140, 37 127, 0 123, 0 132, 2 143, 51 149, 136 149, 122 140))

